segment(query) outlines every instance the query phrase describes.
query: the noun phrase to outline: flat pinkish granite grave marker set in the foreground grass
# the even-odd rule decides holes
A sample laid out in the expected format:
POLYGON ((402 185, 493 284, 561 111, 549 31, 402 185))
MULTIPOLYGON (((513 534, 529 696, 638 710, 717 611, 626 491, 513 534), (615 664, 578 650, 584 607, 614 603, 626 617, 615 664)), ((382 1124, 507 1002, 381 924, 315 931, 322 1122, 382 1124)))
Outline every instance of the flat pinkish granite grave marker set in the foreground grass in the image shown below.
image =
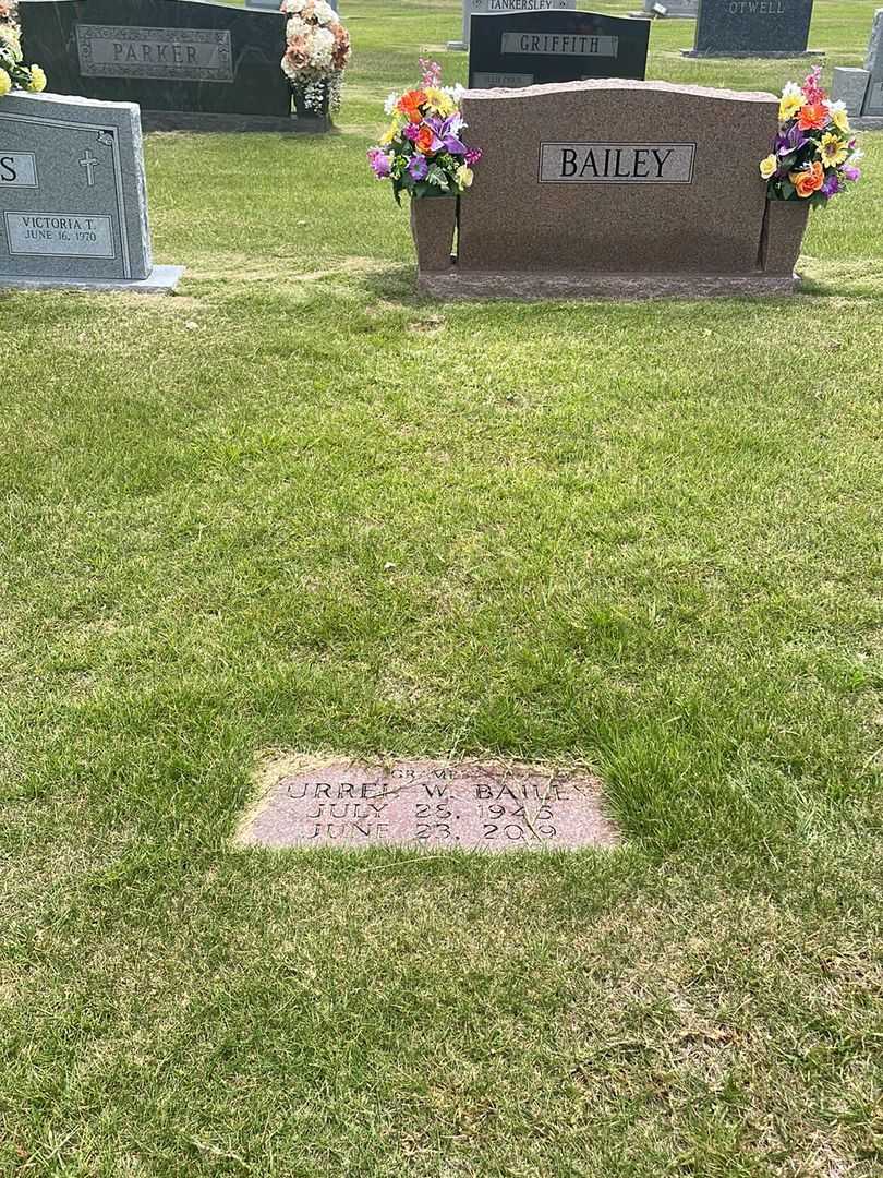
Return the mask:
POLYGON ((271 769, 238 841, 261 847, 536 851, 611 847, 613 823, 589 774, 524 765, 333 761, 271 769))

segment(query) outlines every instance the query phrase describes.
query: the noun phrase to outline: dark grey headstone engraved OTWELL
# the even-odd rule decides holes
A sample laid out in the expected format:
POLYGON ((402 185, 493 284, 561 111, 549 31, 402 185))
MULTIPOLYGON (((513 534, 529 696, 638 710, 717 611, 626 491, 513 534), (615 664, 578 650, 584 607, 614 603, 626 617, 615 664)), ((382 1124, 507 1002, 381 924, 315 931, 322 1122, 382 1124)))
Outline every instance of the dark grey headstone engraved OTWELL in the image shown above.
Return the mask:
MULTIPOLYGON (((691 58, 806 57, 812 0, 699 0, 691 58)), ((814 57, 818 54, 812 54, 814 57)))

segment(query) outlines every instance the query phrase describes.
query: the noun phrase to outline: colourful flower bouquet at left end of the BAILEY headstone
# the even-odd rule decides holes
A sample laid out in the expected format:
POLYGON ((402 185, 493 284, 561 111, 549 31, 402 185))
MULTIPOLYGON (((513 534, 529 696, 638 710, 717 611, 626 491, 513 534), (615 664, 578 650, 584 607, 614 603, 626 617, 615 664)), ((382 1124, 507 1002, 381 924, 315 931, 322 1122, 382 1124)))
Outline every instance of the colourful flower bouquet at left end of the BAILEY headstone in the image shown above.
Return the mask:
POLYGON ((423 78, 417 90, 390 94, 386 113, 392 121, 369 163, 378 180, 391 180, 401 204, 403 188, 412 197, 459 196, 472 184, 478 147, 460 138, 466 128, 458 101, 463 88, 442 85, 442 68, 420 58, 423 78))

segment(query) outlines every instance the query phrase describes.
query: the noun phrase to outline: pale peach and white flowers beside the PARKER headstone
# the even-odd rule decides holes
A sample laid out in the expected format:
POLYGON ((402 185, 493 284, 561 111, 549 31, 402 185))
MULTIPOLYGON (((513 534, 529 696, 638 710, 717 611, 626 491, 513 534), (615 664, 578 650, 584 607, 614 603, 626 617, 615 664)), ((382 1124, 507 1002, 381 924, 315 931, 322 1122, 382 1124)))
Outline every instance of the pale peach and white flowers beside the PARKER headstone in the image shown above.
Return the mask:
POLYGON ((350 60, 350 34, 325 0, 283 0, 285 57, 281 66, 305 110, 340 110, 344 71, 350 60))

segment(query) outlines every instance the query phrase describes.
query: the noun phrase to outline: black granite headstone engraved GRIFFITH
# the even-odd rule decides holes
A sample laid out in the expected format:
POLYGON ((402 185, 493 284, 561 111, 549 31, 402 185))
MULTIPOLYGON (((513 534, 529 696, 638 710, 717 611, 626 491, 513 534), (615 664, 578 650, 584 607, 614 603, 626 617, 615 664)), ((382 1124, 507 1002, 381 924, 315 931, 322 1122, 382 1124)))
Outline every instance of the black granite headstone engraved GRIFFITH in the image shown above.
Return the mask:
POLYGON ((469 85, 494 90, 585 78, 643 78, 649 40, 650 21, 593 12, 473 16, 469 85))

